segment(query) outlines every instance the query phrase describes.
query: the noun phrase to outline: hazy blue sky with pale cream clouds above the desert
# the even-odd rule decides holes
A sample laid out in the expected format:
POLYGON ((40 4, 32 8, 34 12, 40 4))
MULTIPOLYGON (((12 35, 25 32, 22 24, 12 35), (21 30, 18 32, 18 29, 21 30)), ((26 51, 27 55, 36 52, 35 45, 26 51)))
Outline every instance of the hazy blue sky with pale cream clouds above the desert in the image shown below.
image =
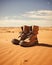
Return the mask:
POLYGON ((52 0, 0 0, 0 26, 52 26, 52 0))

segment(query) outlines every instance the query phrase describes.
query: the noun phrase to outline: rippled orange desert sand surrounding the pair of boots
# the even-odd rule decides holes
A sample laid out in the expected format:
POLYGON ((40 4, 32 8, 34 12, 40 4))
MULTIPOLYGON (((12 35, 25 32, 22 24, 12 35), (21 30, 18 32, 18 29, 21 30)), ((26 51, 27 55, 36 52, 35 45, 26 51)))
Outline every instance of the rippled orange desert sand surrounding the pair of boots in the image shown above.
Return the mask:
POLYGON ((19 31, 20 28, 0 28, 0 65, 52 65, 52 28, 40 29, 38 40, 42 45, 33 47, 11 43, 19 31))

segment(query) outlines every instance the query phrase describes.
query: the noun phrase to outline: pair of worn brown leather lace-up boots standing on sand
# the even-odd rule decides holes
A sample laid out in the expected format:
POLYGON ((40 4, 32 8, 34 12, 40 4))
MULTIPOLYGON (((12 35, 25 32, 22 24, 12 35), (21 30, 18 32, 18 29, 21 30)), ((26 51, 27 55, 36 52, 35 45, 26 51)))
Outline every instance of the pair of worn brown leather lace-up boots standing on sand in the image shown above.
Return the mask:
POLYGON ((21 27, 21 30, 22 32, 20 32, 20 36, 18 37, 20 38, 20 40, 13 39, 12 40, 13 44, 21 45, 24 47, 30 47, 38 44, 38 38, 37 38, 39 30, 38 26, 25 25, 21 27))

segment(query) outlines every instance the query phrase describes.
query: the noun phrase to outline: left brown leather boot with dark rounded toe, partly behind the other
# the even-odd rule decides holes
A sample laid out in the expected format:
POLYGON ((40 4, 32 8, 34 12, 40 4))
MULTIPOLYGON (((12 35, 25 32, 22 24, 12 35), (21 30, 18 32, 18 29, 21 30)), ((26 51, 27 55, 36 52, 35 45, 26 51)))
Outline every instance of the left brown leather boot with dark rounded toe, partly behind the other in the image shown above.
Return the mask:
POLYGON ((16 45, 21 45, 22 43, 23 43, 23 41, 25 40, 25 39, 27 39, 28 38, 28 36, 31 34, 31 33, 29 33, 29 31, 30 30, 32 30, 31 29, 32 27, 31 26, 22 26, 21 27, 21 30, 22 30, 22 32, 20 33, 20 40, 18 40, 18 39, 13 39, 12 40, 12 43, 13 44, 16 44, 16 45))

